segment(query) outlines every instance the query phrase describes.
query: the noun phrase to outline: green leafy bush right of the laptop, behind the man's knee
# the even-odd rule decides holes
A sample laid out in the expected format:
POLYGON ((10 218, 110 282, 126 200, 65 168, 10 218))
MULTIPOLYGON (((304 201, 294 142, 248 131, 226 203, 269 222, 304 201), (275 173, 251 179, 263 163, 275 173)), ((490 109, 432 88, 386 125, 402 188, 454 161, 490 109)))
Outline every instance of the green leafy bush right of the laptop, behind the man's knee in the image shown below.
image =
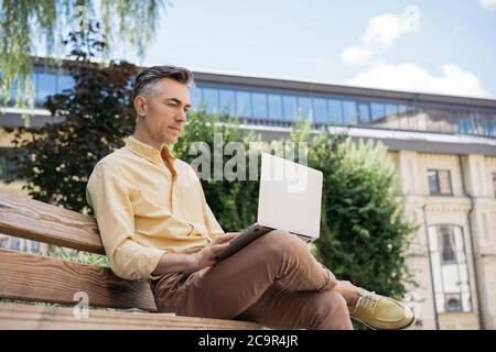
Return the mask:
POLYGON ((324 172, 317 257, 343 279, 401 298, 405 284, 411 282, 405 253, 416 227, 405 220, 386 147, 322 133, 310 165, 324 172))

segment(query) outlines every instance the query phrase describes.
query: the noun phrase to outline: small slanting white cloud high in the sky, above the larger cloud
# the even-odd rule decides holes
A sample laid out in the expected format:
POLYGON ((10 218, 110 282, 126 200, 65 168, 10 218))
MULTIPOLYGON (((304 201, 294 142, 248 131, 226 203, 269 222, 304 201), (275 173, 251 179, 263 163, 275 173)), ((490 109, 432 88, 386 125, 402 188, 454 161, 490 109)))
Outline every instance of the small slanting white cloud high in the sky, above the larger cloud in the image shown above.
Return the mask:
POLYGON ((349 65, 367 63, 374 55, 385 51, 409 32, 419 30, 419 11, 408 7, 402 14, 384 13, 368 20, 359 43, 346 47, 341 59, 349 65))

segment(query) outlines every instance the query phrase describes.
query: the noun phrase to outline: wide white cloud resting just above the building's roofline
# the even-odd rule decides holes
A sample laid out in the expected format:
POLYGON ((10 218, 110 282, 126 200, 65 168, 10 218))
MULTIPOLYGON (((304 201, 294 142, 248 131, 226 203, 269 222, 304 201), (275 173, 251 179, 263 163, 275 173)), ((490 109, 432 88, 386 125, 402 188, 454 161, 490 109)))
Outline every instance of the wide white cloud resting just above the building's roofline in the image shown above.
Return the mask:
POLYGON ((477 76, 455 65, 443 65, 442 74, 434 76, 413 64, 379 64, 360 73, 347 84, 353 86, 431 92, 440 95, 487 98, 477 76))

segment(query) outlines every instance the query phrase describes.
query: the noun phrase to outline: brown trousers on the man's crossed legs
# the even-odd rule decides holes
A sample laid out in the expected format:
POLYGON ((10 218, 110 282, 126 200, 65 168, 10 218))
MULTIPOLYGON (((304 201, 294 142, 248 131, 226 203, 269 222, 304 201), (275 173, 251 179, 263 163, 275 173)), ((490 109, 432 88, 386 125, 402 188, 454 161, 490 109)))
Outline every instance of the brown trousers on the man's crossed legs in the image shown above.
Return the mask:
POLYGON ((157 307, 177 316, 256 321, 271 329, 352 329, 334 274, 296 235, 273 230, 192 274, 151 280, 157 307))

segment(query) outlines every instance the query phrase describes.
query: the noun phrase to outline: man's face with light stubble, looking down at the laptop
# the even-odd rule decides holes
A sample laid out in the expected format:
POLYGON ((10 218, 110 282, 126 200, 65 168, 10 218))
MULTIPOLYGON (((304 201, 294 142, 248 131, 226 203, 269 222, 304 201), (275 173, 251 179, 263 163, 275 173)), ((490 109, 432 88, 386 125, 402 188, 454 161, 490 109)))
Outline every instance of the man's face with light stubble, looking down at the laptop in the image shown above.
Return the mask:
POLYGON ((138 96, 134 107, 138 123, 149 138, 159 143, 176 143, 191 108, 190 90, 171 78, 162 78, 147 97, 138 96))

